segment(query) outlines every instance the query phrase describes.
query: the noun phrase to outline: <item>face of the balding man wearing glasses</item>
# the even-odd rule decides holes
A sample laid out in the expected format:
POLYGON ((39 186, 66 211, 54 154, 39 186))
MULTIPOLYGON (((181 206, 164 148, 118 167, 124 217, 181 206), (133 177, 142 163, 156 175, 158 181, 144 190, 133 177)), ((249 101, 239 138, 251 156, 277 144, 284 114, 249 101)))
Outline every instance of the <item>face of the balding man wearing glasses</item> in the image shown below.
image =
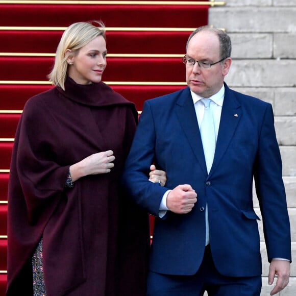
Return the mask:
MULTIPOLYGON (((195 34, 189 41, 186 56, 200 62, 215 63, 219 61, 223 57, 220 57, 218 36, 209 31, 195 34)), ((187 85, 194 93, 202 97, 210 97, 222 87, 230 65, 230 58, 212 65, 209 69, 200 68, 198 63, 192 66, 186 65, 187 85)))

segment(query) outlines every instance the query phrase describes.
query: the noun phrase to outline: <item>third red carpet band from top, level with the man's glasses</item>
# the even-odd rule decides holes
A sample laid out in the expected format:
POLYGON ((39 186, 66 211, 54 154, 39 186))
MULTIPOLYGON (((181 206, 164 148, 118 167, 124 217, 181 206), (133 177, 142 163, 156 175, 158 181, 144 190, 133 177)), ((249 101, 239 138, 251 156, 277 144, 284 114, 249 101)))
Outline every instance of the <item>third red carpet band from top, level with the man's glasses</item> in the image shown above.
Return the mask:
MULTIPOLYGON (((46 81, 54 58, 0 57, 0 80, 46 81)), ((185 81, 185 67, 181 58, 107 58, 104 81, 185 81)))

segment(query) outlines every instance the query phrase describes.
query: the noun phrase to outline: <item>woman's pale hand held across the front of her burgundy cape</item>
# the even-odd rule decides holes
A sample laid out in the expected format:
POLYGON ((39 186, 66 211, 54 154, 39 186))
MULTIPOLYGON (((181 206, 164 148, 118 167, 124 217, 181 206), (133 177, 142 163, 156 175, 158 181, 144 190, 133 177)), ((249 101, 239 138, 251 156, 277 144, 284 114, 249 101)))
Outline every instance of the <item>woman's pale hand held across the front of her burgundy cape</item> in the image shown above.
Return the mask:
POLYGON ((107 174, 114 167, 115 156, 112 150, 94 153, 78 163, 70 166, 70 174, 72 182, 88 176, 88 175, 98 175, 107 174))

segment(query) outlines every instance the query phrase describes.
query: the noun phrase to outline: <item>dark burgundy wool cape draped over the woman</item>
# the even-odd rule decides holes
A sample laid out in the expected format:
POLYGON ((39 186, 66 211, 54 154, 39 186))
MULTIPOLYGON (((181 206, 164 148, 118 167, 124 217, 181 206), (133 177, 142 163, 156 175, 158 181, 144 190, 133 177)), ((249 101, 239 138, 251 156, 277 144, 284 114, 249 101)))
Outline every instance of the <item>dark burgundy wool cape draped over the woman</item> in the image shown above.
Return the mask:
POLYGON ((120 188, 136 129, 133 103, 103 82, 67 78, 24 106, 8 196, 7 295, 32 294, 34 250, 43 238, 48 296, 145 295, 149 220, 120 188), (69 166, 112 150, 108 174, 66 188, 69 166))

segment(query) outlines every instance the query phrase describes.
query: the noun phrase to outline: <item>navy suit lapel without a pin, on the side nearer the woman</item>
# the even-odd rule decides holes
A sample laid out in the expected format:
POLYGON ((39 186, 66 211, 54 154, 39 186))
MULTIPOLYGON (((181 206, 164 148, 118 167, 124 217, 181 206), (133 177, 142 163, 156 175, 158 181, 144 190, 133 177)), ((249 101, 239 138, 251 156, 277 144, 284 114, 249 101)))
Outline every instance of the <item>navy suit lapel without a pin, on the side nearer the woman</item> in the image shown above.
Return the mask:
POLYGON ((207 176, 208 173, 198 119, 196 118, 190 89, 188 87, 184 89, 183 93, 181 93, 176 103, 175 110, 180 125, 184 131, 185 136, 187 137, 189 145, 191 146, 192 152, 202 167, 205 175, 207 176))

